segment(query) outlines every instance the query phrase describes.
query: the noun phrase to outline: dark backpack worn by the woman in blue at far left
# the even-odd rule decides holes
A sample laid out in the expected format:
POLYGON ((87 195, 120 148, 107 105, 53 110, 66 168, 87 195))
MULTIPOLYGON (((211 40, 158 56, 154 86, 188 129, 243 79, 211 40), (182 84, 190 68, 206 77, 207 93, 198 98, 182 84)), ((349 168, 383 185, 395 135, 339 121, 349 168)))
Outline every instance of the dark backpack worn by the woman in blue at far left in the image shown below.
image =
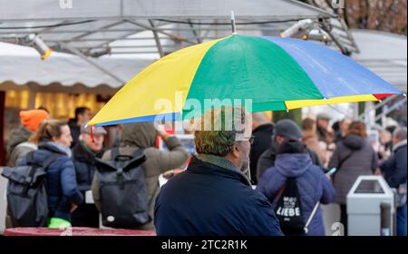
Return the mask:
POLYGON ((34 151, 30 151, 26 165, 4 168, 2 176, 8 179, 7 213, 14 227, 47 226, 46 169, 60 156, 53 153, 45 161, 34 161, 34 151))

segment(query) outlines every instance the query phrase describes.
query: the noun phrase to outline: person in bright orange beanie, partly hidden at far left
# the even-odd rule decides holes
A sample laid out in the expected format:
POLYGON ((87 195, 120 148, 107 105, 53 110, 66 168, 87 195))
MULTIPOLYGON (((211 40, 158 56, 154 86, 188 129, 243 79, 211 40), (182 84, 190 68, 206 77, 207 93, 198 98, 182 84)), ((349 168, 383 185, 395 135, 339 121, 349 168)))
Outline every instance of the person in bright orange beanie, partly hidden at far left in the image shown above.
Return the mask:
MULTIPOLYGON (((7 157, 9 158, 8 165, 15 166, 15 162, 22 154, 26 152, 14 152, 15 148, 27 142, 30 136, 38 129, 40 123, 45 119, 48 119, 49 113, 44 110, 29 110, 20 112, 20 122, 21 126, 18 127, 15 131, 11 132, 10 138, 8 139, 7 145, 5 147, 7 152, 7 157), (14 154, 13 154, 14 153, 14 154)), ((31 147, 28 145, 28 147, 31 147)), ((23 145, 22 149, 26 151, 25 146, 23 145)), ((31 151, 32 149, 30 149, 31 151)))

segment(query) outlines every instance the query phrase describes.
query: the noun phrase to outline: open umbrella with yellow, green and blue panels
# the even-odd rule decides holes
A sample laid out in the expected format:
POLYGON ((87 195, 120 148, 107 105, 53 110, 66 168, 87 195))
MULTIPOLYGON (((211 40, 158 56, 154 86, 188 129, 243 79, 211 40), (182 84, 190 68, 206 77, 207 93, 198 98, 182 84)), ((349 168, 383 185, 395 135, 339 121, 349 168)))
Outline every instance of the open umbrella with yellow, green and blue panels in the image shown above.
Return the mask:
POLYGON ((325 46, 292 38, 234 34, 190 46, 151 64, 88 124, 148 122, 158 116, 177 119, 181 112, 185 115, 191 110, 186 107, 190 99, 202 104, 206 99, 251 99, 252 112, 263 112, 378 101, 400 93, 325 46))

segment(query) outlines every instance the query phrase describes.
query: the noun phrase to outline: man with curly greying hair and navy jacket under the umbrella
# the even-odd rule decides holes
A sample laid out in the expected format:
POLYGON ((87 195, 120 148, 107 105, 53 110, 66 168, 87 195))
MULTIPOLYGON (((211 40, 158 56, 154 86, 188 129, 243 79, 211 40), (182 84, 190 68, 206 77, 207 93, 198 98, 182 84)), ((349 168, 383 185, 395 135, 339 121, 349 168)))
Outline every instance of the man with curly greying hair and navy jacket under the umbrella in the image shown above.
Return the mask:
POLYGON ((250 121, 242 117, 247 114, 241 111, 231 117, 222 109, 208 115, 195 133, 198 155, 187 171, 162 187, 156 199, 157 235, 282 235, 271 205, 252 190, 245 175, 252 141, 250 121))

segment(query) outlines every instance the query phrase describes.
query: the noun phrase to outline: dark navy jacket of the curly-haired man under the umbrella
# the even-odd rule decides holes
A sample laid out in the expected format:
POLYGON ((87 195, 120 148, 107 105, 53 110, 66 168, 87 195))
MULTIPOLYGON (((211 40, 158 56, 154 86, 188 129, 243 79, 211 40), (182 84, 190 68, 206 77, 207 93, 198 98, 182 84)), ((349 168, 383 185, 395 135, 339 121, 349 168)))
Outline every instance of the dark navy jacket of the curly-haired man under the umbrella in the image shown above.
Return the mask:
POLYGON ((156 199, 159 236, 282 235, 267 199, 238 171, 193 157, 156 199))

